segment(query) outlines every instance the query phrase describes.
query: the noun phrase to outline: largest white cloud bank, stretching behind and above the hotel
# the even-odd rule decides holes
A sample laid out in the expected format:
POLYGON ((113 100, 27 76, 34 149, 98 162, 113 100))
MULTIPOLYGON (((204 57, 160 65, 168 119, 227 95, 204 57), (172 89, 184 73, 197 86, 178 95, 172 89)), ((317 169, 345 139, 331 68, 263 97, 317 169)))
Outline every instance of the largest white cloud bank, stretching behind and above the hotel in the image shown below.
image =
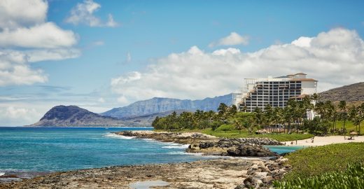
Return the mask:
POLYGON ((364 42, 356 31, 332 29, 256 52, 236 48, 204 52, 196 46, 157 59, 146 70, 111 80, 123 102, 151 97, 202 99, 236 91, 244 78, 304 72, 318 90, 364 80, 364 42))

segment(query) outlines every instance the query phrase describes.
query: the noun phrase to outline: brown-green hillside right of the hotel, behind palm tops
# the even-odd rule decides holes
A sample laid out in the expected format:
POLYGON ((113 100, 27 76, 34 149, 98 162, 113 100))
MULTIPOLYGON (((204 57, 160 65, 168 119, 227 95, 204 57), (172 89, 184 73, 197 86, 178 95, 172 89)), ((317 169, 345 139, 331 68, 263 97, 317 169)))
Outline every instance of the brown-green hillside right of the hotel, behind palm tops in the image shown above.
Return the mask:
POLYGON ((319 96, 321 101, 338 102, 344 100, 349 104, 364 102, 364 82, 333 88, 319 93, 319 96))

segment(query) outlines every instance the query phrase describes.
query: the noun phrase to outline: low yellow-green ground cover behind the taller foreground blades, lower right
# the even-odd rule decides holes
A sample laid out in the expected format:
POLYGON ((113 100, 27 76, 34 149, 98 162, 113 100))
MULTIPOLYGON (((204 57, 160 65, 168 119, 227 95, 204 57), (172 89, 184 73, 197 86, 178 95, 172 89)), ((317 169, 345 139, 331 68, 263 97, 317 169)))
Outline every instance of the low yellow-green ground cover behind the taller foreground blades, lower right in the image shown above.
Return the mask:
POLYGON ((285 180, 343 171, 347 165, 364 163, 364 143, 330 144, 304 148, 286 156, 293 169, 285 180))

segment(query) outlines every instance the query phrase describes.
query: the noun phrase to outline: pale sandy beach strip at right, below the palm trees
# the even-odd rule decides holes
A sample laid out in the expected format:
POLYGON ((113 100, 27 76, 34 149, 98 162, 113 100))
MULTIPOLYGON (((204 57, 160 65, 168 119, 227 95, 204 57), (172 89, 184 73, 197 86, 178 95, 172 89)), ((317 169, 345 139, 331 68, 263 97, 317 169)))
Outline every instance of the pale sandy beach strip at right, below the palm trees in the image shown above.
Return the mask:
POLYGON ((296 141, 286 141, 286 146, 323 146, 328 144, 339 144, 339 143, 349 143, 349 142, 364 142, 364 136, 353 137, 353 140, 348 140, 349 137, 344 136, 329 136, 329 137, 314 137, 314 142, 311 139, 298 140, 296 141), (293 144, 291 144, 293 142, 293 144))

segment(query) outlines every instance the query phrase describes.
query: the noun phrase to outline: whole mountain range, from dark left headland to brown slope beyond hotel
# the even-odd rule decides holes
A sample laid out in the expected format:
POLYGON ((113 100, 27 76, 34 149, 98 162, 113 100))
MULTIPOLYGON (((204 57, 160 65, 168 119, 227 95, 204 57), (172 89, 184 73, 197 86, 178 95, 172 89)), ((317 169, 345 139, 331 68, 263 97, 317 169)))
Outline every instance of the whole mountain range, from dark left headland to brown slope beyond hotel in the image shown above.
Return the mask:
MULTIPOLYGON (((337 87, 319 93, 320 100, 351 104, 364 102, 364 82, 337 87)), ((173 111, 216 111, 220 103, 232 104, 232 94, 202 100, 153 98, 138 101, 104 113, 92 113, 78 106, 55 106, 43 118, 30 126, 121 126, 150 127, 155 117, 167 116, 173 111)))

